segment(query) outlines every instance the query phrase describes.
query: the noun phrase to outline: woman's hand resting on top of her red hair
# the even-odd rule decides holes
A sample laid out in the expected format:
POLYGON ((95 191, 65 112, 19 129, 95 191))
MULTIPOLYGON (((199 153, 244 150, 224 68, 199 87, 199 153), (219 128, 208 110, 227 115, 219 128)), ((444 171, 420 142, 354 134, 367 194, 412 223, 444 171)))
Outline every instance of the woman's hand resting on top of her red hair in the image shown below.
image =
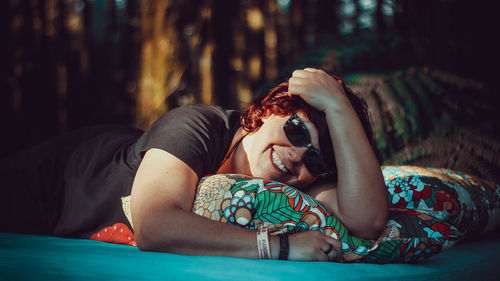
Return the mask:
POLYGON ((342 84, 321 69, 295 70, 288 80, 288 92, 322 112, 349 104, 342 84))

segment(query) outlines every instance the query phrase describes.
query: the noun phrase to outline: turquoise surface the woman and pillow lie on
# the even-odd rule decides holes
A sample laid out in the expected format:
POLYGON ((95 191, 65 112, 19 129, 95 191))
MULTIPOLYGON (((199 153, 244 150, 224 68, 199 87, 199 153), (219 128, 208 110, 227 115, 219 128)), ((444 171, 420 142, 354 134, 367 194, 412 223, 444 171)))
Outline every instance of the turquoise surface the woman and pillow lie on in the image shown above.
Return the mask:
POLYGON ((91 240, 0 233, 0 280, 500 280, 500 238, 415 264, 183 256, 91 240))

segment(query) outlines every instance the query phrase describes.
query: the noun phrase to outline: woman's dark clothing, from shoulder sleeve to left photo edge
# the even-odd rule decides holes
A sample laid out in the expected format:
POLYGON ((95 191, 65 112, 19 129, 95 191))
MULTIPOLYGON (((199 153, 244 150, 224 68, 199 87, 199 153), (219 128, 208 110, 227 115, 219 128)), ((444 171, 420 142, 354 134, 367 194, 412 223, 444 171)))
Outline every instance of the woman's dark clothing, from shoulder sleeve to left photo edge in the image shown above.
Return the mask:
POLYGON ((239 111, 218 106, 184 106, 145 132, 85 128, 0 160, 6 194, 0 219, 8 221, 0 231, 88 238, 118 222, 130 227, 121 198, 130 195, 144 153, 163 149, 198 177, 216 173, 240 127, 239 117, 239 111))

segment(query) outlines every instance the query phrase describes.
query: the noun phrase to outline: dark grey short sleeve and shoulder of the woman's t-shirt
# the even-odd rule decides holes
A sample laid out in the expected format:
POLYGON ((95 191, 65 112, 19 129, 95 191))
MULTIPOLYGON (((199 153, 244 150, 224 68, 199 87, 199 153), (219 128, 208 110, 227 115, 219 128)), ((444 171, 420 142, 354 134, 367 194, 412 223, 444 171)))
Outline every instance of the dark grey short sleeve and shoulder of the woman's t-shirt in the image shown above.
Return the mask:
POLYGON ((198 177, 213 174, 231 145, 239 116, 238 111, 211 105, 173 109, 144 132, 135 151, 142 157, 147 150, 159 148, 186 163, 198 177))

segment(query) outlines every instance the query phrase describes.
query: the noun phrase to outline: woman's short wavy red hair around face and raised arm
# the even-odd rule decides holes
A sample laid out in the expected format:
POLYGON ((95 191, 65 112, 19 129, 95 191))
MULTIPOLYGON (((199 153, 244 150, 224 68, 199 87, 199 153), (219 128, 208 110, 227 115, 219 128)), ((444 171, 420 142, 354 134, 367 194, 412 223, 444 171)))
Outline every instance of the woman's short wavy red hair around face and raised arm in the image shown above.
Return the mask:
MULTIPOLYGON (((363 129, 368 137, 368 140, 374 145, 372 127, 368 115, 365 101, 354 94, 351 89, 347 88, 344 82, 337 76, 333 76, 343 86, 344 92, 353 106, 358 118, 363 125, 363 129)), ((288 116, 292 113, 302 112, 316 126, 319 134, 320 151, 325 159, 332 175, 328 178, 330 181, 337 181, 337 166, 335 163, 335 155, 333 151, 332 139, 326 122, 325 114, 318 111, 314 107, 306 103, 298 95, 290 95, 288 93, 288 82, 279 84, 272 89, 266 96, 254 101, 248 109, 241 114, 241 126, 249 133, 258 130, 263 119, 273 114, 278 116, 288 116)))

